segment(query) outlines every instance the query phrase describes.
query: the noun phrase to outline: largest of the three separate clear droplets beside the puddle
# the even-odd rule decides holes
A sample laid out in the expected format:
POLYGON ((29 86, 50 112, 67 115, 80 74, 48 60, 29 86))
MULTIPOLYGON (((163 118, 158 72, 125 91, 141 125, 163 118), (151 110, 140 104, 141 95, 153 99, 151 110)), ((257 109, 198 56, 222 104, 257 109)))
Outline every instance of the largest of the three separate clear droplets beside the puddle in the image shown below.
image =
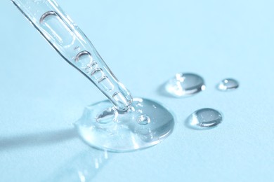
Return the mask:
POLYGON ((167 93, 174 97, 185 97, 205 90, 204 79, 195 73, 176 73, 165 84, 167 93))

